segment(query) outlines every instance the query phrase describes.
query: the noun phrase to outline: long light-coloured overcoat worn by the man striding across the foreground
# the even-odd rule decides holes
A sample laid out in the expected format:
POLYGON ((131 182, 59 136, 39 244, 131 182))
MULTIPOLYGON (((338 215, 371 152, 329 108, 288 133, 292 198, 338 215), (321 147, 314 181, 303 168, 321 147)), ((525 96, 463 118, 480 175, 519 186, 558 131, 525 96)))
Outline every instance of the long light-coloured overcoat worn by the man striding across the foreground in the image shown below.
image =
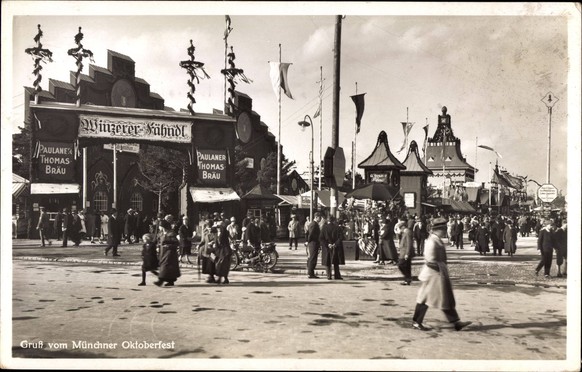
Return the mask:
POLYGON ((436 309, 454 309, 456 303, 447 267, 447 251, 442 240, 434 234, 424 244, 424 260, 418 274, 421 285, 416 302, 436 309))

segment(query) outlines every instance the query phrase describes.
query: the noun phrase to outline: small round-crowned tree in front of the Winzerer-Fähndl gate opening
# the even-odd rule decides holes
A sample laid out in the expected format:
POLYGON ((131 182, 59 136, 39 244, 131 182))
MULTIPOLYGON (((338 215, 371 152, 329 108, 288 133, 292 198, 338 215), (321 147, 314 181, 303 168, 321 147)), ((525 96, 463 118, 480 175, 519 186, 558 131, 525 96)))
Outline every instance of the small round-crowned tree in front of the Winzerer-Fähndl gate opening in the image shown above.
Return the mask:
POLYGON ((162 196, 176 191, 186 179, 186 157, 177 150, 148 145, 140 150, 138 167, 143 179, 137 182, 158 196, 158 213, 161 213, 162 196))

